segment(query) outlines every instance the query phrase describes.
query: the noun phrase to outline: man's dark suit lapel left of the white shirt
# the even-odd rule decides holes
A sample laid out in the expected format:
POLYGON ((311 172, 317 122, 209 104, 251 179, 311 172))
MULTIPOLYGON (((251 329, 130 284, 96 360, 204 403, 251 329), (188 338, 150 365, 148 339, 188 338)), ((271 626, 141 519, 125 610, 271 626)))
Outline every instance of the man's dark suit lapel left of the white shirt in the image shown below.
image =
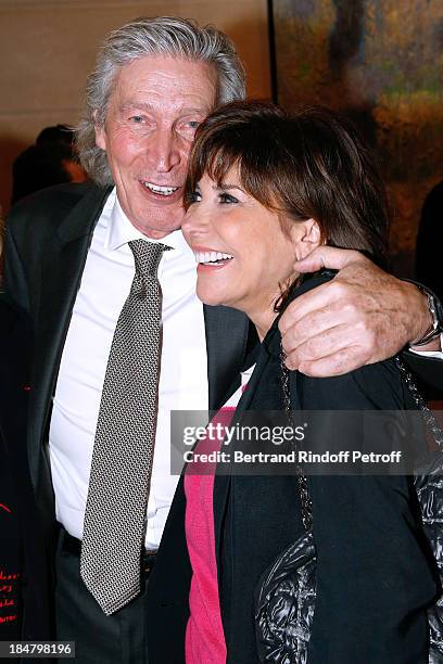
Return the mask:
POLYGON ((94 189, 81 199, 58 228, 52 244, 45 247, 29 403, 28 458, 34 486, 72 309, 92 231, 107 196, 109 190, 94 189))

